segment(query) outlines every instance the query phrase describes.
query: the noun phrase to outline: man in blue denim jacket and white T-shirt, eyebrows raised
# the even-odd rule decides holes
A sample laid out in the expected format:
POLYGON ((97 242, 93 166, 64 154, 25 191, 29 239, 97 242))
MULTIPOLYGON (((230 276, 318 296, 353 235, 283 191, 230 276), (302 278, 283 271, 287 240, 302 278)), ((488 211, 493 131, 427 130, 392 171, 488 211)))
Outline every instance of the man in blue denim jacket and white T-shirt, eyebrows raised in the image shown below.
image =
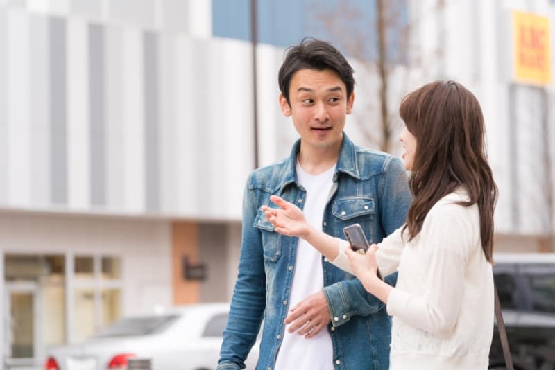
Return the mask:
POLYGON ((343 132, 352 67, 333 46, 305 39, 279 73, 280 107, 300 139, 291 156, 251 173, 243 203, 239 276, 218 369, 242 369, 262 319, 257 369, 388 369, 391 321, 354 276, 304 240, 282 236, 260 210, 280 195, 311 224, 343 236, 359 223, 370 243, 400 227, 410 193, 399 159, 355 146, 343 132))

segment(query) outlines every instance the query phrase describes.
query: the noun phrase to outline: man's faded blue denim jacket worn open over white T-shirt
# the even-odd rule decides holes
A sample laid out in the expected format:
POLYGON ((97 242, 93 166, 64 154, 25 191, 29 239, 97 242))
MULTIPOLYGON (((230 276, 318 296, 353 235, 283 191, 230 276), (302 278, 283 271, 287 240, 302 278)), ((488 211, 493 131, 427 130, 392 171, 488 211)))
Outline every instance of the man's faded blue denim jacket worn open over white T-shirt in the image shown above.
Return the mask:
MULTIPOLYGON (((296 157, 291 156, 250 174, 243 201, 243 231, 239 276, 228 324, 223 331, 217 369, 243 369, 262 319, 264 329, 256 369, 273 369, 289 310, 289 292, 298 238, 274 231, 263 205, 280 195, 302 208, 306 192, 298 184, 296 157)), ((343 227, 359 223, 370 243, 379 243, 400 227, 411 201, 401 161, 391 155, 355 146, 343 133, 343 143, 325 207, 322 229, 345 238, 343 227)), ((391 319, 384 303, 364 290, 360 281, 322 257, 324 294, 331 314, 330 331, 337 370, 388 369, 391 319)), ((386 278, 395 283, 396 274, 386 278)))

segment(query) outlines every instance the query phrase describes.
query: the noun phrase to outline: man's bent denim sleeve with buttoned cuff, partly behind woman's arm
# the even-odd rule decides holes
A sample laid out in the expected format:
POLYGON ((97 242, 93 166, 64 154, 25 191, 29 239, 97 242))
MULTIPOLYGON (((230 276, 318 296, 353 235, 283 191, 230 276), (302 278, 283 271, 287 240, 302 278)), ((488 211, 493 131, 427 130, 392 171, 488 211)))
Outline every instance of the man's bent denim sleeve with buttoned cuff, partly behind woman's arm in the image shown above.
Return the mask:
MULTIPOLYGON (((393 233, 407 218, 411 192, 407 173, 400 159, 388 157, 378 184, 379 220, 385 235, 393 233)), ((395 286, 397 272, 386 276, 386 283, 395 286)), ((355 315, 371 315, 385 304, 366 292, 359 279, 339 281, 324 288, 333 326, 341 326, 355 315)))

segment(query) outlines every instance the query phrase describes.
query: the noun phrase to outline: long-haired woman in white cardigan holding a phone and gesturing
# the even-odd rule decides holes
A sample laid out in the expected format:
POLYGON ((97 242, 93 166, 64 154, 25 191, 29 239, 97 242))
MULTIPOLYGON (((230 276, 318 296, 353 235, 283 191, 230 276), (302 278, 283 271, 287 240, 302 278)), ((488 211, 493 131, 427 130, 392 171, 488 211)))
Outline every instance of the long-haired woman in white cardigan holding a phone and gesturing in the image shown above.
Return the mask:
POLYGON ((307 240, 355 274, 393 317, 391 369, 487 369, 493 335, 493 211, 484 117, 453 81, 408 94, 400 116, 413 201, 407 223, 366 255, 311 228, 280 197, 263 207, 275 231, 307 240), (377 277, 399 271, 395 288, 377 277))

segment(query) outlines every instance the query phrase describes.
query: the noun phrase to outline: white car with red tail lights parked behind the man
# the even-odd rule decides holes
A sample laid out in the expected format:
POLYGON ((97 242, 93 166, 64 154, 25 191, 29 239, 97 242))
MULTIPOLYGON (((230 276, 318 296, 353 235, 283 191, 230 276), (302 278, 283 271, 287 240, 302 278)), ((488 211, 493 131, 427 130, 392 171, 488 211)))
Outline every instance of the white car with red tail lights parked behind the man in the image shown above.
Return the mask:
MULTIPOLYGON (((150 359, 153 370, 216 369, 228 310, 228 303, 205 303, 127 317, 81 344, 52 349, 44 369, 123 370, 128 358, 150 359)), ((258 345, 247 369, 255 368, 258 345)))

